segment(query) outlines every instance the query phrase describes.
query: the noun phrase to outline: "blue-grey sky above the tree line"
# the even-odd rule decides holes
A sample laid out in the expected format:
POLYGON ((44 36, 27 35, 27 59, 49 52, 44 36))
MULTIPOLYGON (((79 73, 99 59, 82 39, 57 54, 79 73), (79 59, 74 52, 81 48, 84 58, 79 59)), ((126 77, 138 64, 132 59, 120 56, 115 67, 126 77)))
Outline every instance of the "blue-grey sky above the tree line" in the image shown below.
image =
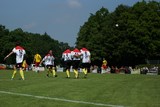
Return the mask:
MULTIPOLYGON (((10 31, 44 34, 75 46, 80 26, 104 7, 113 12, 120 5, 142 0, 0 0, 0 24, 10 31)), ((160 0, 158 0, 160 1, 160 0)))

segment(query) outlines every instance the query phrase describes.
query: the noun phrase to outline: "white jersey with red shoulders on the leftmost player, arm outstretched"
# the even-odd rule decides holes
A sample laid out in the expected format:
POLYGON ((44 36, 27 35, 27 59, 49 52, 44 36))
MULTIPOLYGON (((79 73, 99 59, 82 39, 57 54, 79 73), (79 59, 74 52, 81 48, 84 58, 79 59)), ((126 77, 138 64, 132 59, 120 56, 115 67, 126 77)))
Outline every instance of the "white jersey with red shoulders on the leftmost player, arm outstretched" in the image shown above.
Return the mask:
POLYGON ((22 63, 26 51, 20 46, 16 46, 12 51, 16 54, 16 63, 22 63))

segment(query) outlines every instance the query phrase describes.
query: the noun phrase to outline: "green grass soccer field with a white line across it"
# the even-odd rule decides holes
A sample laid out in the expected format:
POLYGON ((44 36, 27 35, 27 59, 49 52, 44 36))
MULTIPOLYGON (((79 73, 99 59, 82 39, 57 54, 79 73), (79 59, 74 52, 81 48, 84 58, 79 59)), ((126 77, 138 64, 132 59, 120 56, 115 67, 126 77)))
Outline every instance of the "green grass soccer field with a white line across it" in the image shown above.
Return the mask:
POLYGON ((46 72, 0 70, 0 107, 160 107, 160 76, 88 74, 46 77, 46 72))

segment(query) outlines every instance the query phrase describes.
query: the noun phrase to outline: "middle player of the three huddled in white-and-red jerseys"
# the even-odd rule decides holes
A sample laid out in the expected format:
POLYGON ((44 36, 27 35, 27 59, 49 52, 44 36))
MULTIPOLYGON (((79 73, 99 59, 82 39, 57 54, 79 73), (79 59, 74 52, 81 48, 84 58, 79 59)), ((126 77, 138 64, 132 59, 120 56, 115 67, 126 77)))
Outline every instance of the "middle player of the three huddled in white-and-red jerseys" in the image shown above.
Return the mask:
POLYGON ((78 74, 78 68, 80 64, 80 57, 81 57, 81 52, 75 48, 72 52, 72 57, 73 57, 73 71, 75 74, 75 78, 77 79, 79 74, 78 74))

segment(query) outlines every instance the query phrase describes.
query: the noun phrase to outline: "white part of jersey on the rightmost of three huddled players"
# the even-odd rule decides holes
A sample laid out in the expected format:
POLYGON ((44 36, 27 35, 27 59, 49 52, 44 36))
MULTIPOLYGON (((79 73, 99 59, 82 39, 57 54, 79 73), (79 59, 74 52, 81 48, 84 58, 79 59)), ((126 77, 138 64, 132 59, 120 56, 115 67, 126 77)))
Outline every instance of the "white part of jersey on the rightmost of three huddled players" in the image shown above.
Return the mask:
POLYGON ((82 63, 89 63, 91 53, 89 51, 81 51, 82 54, 82 63))

